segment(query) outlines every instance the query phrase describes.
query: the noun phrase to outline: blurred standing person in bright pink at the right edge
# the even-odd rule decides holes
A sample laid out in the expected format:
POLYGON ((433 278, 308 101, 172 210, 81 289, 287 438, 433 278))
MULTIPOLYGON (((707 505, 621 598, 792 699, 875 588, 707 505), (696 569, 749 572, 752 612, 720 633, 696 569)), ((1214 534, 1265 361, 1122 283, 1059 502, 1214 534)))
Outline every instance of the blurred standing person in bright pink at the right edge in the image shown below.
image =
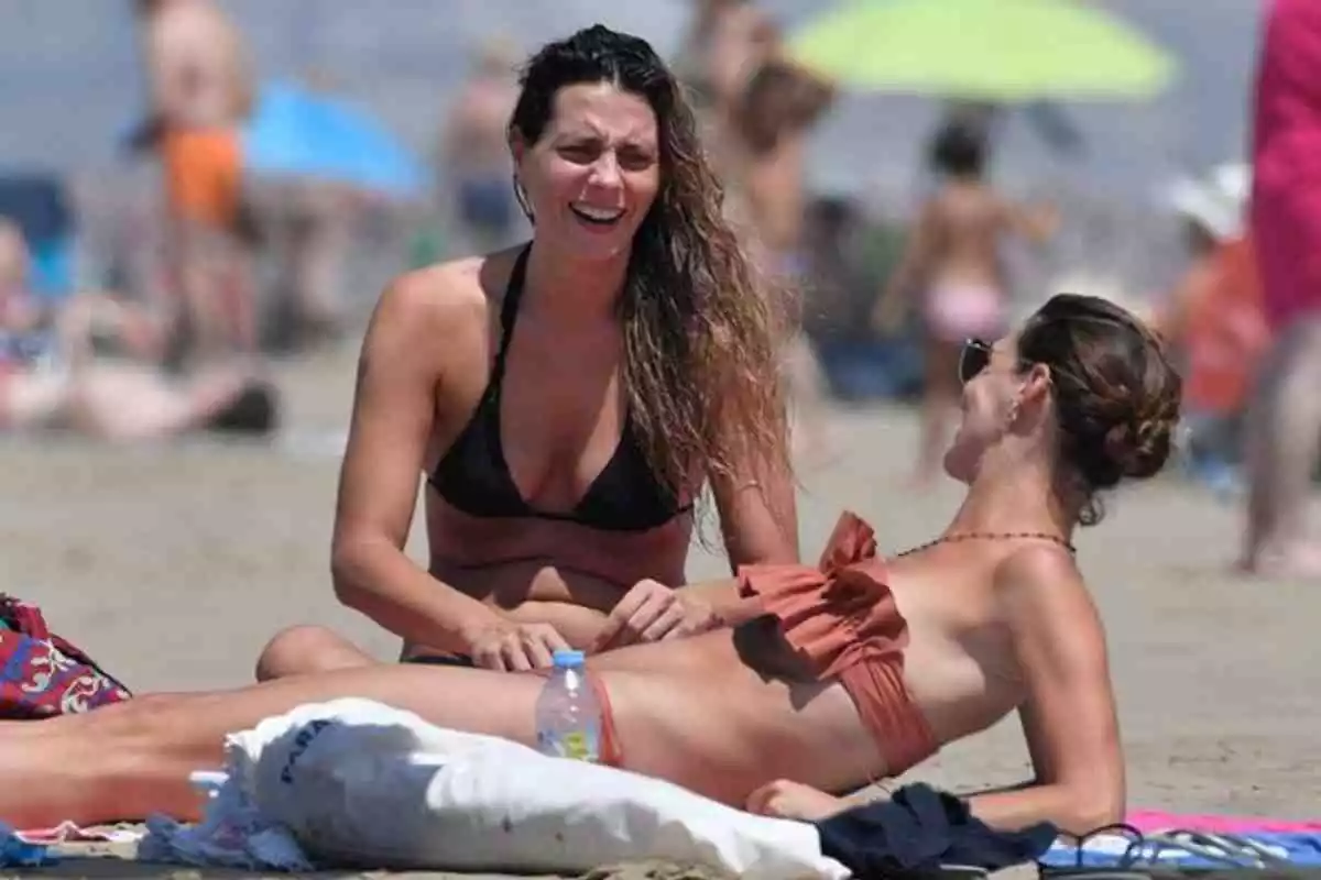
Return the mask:
POLYGON ((1321 3, 1266 11, 1252 144, 1252 237, 1276 336, 1248 417, 1243 569, 1321 575, 1305 512, 1321 445, 1321 3))

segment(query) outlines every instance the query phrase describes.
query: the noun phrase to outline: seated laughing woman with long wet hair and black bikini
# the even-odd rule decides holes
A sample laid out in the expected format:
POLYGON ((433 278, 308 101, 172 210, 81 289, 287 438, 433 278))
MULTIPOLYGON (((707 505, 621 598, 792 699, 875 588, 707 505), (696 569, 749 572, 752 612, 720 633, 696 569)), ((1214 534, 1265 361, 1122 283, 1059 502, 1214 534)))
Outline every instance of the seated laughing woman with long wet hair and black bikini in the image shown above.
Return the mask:
MULTIPOLYGON (((408 660, 522 670, 712 625, 672 590, 708 480, 732 569, 797 562, 798 524, 781 297, 662 61, 601 26, 547 45, 509 144, 531 243, 407 274, 373 317, 333 577, 408 660), (403 549, 419 471, 429 571, 403 549)), ((295 627, 258 677, 373 662, 295 627)))

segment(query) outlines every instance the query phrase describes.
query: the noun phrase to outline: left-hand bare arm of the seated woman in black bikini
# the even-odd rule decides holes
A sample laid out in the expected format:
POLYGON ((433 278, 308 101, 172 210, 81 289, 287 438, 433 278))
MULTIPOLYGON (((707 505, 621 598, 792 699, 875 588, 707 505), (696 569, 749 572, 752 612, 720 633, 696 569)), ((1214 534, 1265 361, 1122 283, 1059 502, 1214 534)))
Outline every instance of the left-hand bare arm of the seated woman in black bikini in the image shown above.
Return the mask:
MULTIPOLYGON (((404 553, 436 410, 436 391, 465 355, 461 329, 485 332, 456 269, 404 276, 380 297, 362 344, 349 445, 339 471, 332 575, 339 600, 408 641, 466 650, 495 623, 404 553)), ((476 332, 476 331, 474 331, 476 332)))

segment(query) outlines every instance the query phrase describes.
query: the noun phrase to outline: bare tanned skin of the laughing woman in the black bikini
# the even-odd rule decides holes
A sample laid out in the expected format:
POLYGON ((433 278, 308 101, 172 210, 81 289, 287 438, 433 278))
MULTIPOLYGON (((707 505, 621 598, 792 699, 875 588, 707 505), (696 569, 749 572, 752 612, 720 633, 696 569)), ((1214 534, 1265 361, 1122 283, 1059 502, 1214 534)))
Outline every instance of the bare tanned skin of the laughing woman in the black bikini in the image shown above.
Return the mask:
MULTIPOLYGON (((659 186, 655 116, 613 86, 571 86, 556 98, 540 140, 514 146, 530 198, 543 207, 506 354, 501 445, 524 501, 563 513, 588 492, 624 430, 614 305, 633 231, 659 186), (609 232, 584 231, 568 210, 575 202, 625 214, 609 232)), ((690 515, 646 532, 482 519, 428 486, 428 569, 404 554, 419 475, 435 470, 490 381, 517 255, 514 248, 421 269, 382 297, 362 348, 341 471, 337 595, 402 636, 406 653, 460 653, 493 669, 548 666, 551 652, 568 645, 708 628, 709 608, 670 588, 687 581, 690 515)), ((711 480, 731 566, 797 561, 790 475, 756 462, 734 470, 692 480, 711 480)), ((276 678, 370 662, 334 633, 297 628, 268 646, 258 673, 276 678)))

